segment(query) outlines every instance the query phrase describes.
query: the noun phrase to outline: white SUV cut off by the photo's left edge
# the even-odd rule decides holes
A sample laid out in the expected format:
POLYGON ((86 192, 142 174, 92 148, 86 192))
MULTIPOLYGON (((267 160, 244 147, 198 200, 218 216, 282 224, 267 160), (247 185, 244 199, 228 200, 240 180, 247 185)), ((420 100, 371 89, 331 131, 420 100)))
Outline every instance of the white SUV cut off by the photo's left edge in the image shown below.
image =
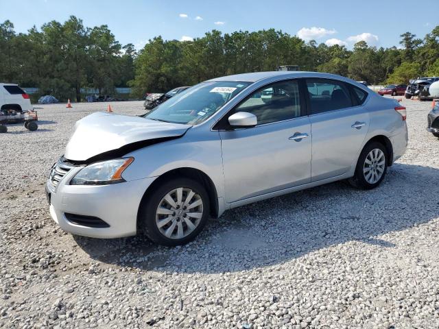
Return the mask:
POLYGON ((32 111, 29 95, 16 84, 0 84, 0 110, 32 111))

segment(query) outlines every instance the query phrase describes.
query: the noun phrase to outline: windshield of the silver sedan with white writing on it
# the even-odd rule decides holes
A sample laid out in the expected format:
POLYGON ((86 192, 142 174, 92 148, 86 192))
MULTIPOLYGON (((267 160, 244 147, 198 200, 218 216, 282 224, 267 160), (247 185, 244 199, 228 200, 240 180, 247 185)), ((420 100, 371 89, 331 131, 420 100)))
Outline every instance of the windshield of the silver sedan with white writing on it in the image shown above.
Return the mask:
POLYGON ((250 82, 202 82, 161 103, 144 117, 157 121, 196 125, 206 121, 248 85, 250 82))

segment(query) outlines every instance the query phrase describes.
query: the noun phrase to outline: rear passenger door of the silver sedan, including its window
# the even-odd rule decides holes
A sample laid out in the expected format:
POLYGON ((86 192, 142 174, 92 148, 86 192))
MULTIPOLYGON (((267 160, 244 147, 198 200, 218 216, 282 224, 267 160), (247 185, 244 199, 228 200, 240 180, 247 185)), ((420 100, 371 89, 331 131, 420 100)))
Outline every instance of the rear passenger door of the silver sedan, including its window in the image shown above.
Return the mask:
POLYGON ((311 181, 346 173, 357 161, 369 127, 366 92, 344 82, 307 79, 312 135, 311 181), (351 89, 352 88, 352 89, 351 89), (363 93, 361 101, 353 94, 363 93))

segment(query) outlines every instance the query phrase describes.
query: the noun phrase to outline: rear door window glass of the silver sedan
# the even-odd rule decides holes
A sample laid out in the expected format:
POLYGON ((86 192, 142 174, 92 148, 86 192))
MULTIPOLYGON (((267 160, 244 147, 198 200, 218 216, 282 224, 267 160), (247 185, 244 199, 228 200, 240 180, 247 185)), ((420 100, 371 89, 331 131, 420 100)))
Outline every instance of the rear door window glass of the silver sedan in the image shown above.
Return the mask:
POLYGON ((335 80, 307 80, 311 114, 340 110, 353 106, 348 88, 335 80))

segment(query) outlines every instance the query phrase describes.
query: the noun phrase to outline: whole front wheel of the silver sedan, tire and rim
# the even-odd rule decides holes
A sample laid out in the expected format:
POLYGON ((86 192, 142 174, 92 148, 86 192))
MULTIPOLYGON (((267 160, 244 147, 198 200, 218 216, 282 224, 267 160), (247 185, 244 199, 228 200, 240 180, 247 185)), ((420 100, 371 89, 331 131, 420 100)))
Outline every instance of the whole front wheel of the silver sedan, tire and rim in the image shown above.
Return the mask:
POLYGON ((189 178, 174 178, 145 196, 138 221, 152 241, 174 247, 195 239, 208 217, 209 195, 204 186, 189 178))

